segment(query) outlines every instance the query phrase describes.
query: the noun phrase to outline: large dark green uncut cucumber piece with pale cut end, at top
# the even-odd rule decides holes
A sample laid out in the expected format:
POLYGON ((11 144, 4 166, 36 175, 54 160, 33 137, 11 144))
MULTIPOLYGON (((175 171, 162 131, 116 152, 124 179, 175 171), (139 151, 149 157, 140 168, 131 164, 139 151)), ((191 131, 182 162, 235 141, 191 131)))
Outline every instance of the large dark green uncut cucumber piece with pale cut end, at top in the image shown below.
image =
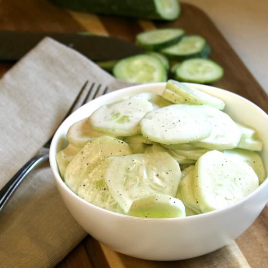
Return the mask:
POLYGON ((178 0, 50 0, 52 3, 93 14, 106 14, 141 19, 173 20, 180 14, 178 0))

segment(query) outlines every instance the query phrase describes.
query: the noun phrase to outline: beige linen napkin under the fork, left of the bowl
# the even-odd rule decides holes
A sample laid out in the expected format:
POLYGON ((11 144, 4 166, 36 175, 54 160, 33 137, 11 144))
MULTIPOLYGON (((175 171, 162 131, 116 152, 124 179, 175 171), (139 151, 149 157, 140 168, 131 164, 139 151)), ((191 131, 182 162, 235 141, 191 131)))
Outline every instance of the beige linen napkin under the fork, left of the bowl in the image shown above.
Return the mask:
MULTIPOLYGON (((0 188, 55 132, 85 80, 123 87, 76 51, 43 39, 0 80, 0 188)), ((0 267, 54 267, 86 233, 65 208, 48 162, 0 213, 0 267)))

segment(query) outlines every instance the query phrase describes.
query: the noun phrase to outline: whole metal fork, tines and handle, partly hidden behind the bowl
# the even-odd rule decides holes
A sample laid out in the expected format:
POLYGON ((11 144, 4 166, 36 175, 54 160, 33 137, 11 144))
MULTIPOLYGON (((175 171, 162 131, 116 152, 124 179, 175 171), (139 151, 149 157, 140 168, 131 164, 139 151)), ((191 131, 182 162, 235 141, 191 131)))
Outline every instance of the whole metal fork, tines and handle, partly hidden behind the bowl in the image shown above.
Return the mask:
MULTIPOLYGON (((77 110, 80 106, 84 105, 86 102, 98 96, 106 94, 107 91, 108 91, 107 86, 102 86, 101 84, 96 83, 88 85, 88 81, 86 81, 82 86, 82 88, 80 89, 80 92, 78 93, 75 101, 73 102, 72 106, 70 107, 69 111, 67 112, 63 120, 65 120, 70 114, 72 114, 75 110, 77 110)), ((3 209, 4 205, 16 191, 19 184, 23 181, 23 179, 27 176, 27 174, 31 172, 35 167, 37 167, 41 162, 48 159, 49 147, 53 135, 39 150, 38 154, 32 157, 0 190, 0 211, 3 209)))

